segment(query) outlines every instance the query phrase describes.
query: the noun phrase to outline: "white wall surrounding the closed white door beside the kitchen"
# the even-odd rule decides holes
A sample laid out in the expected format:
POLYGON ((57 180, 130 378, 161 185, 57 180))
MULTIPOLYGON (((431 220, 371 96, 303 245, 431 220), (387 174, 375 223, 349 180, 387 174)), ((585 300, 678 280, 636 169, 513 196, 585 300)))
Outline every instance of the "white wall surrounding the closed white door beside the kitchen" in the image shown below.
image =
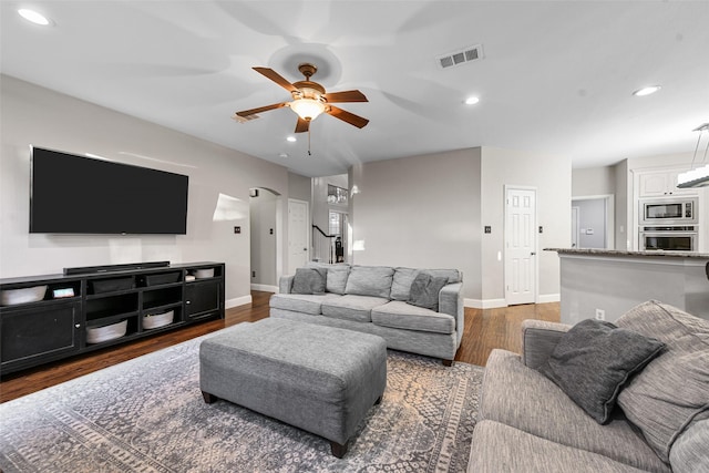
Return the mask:
POLYGON ((504 294, 504 196, 505 185, 530 186, 537 191, 538 301, 558 300, 559 265, 555 251, 543 248, 571 247, 572 164, 567 156, 533 152, 482 148, 482 225, 492 227, 483 235, 480 258, 483 270, 482 296, 503 300, 504 294))

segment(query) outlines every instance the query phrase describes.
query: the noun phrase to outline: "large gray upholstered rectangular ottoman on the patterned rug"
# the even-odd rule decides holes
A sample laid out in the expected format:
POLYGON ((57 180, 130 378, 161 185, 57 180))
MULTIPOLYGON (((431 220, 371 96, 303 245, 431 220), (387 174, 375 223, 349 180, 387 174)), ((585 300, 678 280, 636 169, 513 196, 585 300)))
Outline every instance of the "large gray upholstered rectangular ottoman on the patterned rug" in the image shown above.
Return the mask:
POLYGON ((350 436, 387 387, 383 338, 333 327, 263 319, 239 323, 199 346, 199 388, 330 441, 350 436))

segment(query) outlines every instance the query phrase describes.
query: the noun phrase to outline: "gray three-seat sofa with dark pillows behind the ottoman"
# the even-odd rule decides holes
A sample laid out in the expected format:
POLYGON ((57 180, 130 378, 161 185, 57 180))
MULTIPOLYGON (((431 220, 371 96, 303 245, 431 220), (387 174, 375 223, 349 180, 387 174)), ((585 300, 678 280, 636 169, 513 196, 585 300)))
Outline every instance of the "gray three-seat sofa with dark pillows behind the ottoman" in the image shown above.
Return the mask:
POLYGON ((270 317, 378 335, 450 364, 463 336, 462 281, 456 269, 309 263, 280 278, 270 317))

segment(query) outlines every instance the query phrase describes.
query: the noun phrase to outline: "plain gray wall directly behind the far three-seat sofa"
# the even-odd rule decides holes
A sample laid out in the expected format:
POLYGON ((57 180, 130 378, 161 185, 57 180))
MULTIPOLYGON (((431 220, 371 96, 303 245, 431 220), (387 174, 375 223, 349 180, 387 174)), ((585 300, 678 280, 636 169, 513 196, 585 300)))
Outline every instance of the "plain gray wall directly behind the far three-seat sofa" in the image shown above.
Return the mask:
POLYGON ((458 268, 480 295, 481 150, 364 163, 349 173, 351 261, 458 268))

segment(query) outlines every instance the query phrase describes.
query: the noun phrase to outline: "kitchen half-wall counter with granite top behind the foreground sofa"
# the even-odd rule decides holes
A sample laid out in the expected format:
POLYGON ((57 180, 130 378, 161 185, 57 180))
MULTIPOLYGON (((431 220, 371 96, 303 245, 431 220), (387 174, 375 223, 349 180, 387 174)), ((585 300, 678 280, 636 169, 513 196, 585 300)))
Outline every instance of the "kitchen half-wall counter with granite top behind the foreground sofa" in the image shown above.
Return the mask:
POLYGON ((709 254, 545 248, 561 259, 562 322, 616 321, 646 300, 709 319, 709 254))

